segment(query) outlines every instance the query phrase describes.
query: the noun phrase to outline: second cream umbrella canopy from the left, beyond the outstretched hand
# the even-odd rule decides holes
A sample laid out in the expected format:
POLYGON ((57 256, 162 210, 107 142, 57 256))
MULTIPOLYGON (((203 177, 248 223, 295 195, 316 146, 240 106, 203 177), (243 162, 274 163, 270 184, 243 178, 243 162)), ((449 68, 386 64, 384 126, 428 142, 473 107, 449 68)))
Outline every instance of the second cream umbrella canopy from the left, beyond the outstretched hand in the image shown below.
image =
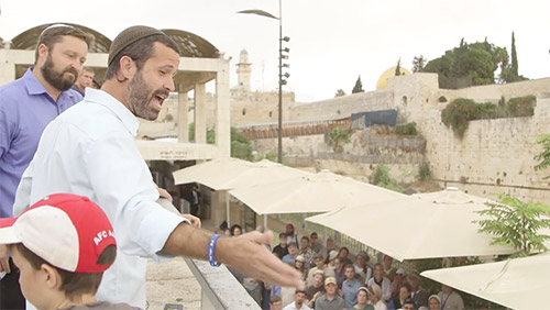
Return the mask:
POLYGON ((345 206, 405 197, 327 170, 239 188, 230 193, 258 214, 327 212, 345 206))

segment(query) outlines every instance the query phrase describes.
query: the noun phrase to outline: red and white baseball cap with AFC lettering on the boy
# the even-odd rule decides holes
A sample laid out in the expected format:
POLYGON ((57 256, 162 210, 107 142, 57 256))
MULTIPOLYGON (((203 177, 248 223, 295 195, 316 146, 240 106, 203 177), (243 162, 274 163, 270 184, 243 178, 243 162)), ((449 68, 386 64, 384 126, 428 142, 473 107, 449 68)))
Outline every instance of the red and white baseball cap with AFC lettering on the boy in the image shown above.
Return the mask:
POLYGON ((117 246, 103 210, 72 193, 47 196, 18 218, 0 219, 0 244, 13 243, 22 243, 55 267, 94 274, 109 268, 97 261, 107 246, 117 246))

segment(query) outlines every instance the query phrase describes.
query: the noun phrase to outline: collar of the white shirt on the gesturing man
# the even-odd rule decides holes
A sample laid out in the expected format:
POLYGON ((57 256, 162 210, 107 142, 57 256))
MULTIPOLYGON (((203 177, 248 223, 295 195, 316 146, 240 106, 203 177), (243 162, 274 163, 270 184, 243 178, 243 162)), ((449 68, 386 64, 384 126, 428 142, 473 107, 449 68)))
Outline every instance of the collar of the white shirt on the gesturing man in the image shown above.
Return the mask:
POLYGON ((101 104, 111 110, 133 136, 138 134, 140 122, 138 121, 135 115, 132 114, 132 112, 130 112, 130 110, 122 102, 117 100, 108 92, 99 89, 88 88, 86 89, 86 96, 84 100, 101 104))

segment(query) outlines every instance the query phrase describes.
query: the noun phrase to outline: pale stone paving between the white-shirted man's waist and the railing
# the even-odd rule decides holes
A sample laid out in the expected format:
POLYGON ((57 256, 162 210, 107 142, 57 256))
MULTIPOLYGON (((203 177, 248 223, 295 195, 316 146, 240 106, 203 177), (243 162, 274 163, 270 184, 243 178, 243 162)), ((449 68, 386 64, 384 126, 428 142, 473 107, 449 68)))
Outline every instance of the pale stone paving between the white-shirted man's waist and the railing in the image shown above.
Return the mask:
POLYGON ((166 303, 200 310, 200 286, 182 257, 161 264, 150 259, 146 289, 150 310, 164 310, 166 303))

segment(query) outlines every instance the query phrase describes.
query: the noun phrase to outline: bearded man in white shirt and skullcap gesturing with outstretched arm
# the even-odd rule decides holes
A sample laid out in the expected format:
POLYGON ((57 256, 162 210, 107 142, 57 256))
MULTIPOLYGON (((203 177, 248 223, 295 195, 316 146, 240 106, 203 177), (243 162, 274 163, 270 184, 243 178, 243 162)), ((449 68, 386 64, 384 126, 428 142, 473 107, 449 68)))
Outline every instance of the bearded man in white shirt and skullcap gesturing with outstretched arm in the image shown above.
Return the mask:
MULTIPOLYGON (((273 234, 252 232, 218 237, 162 208, 158 191, 134 141, 135 117, 154 120, 175 89, 179 48, 163 32, 132 26, 111 44, 101 90, 88 89, 44 131, 38 150, 19 185, 13 211, 51 193, 89 197, 113 224, 118 257, 103 275, 98 300, 145 309, 146 259, 185 255, 232 265, 251 277, 302 287, 299 274, 272 255, 273 234), (234 251, 240 248, 241 251, 234 251)), ((3 259, 3 257, 0 257, 3 259)))

